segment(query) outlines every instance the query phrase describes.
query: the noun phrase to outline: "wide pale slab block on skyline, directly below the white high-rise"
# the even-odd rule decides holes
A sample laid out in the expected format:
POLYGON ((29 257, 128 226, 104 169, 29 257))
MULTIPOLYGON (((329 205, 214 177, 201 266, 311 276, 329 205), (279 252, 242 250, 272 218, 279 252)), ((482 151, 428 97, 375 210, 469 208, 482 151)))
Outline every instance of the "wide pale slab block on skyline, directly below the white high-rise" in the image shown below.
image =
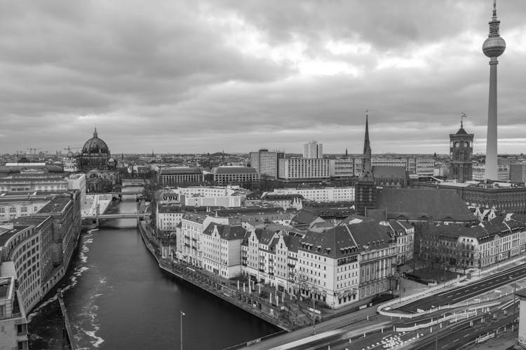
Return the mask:
POLYGON ((330 160, 323 158, 280 159, 278 177, 286 181, 330 179, 330 160))

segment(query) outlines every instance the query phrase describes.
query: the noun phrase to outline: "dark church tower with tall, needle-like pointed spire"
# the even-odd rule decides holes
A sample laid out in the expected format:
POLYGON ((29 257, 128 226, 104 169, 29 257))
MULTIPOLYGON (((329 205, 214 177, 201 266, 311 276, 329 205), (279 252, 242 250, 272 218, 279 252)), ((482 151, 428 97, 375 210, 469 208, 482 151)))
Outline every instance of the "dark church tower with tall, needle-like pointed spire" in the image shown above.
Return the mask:
POLYGON ((369 116, 365 115, 365 140, 363 141, 362 172, 354 190, 356 214, 365 216, 367 209, 376 207, 376 184, 372 175, 371 144, 369 141, 369 116))

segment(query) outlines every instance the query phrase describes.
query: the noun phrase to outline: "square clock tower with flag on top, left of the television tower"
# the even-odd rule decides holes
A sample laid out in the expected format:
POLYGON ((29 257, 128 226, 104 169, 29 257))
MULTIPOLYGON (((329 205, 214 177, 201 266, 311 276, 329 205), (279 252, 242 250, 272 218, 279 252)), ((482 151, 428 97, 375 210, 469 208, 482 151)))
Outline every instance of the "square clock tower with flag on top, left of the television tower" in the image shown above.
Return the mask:
MULTIPOLYGON (((464 113, 462 116, 465 117, 464 113)), ((457 134, 450 134, 450 178, 458 182, 471 180, 473 175, 473 134, 464 130, 462 121, 457 134)))

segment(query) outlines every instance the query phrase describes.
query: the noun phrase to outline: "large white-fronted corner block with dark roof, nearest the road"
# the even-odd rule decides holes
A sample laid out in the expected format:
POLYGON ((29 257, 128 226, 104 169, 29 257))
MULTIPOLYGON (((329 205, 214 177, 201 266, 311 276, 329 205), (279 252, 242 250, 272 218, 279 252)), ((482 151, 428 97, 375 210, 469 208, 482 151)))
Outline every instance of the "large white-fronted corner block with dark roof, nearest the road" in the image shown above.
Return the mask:
POLYGON ((337 309, 391 289, 396 249, 374 221, 307 231, 299 243, 296 283, 302 295, 337 309))

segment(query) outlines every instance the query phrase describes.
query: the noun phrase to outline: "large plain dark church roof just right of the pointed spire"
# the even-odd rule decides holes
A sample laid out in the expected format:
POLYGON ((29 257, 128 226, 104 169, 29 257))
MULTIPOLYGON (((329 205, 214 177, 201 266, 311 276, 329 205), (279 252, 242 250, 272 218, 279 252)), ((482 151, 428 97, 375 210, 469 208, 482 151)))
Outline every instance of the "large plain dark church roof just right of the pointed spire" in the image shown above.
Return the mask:
POLYGON ((404 220, 476 221, 455 190, 421 188, 379 188, 377 209, 367 216, 381 213, 404 220))

